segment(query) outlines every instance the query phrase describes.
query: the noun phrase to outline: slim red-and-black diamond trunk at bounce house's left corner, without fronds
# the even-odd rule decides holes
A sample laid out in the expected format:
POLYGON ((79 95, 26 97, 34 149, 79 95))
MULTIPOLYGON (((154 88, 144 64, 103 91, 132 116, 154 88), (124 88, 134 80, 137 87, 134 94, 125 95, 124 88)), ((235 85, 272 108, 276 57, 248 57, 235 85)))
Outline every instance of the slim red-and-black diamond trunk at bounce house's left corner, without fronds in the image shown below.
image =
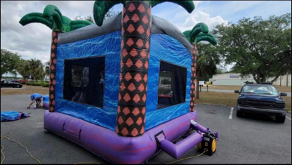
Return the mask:
POLYGON ((50 82, 49 82, 49 112, 55 111, 55 76, 57 67, 57 46, 58 46, 58 34, 60 32, 53 32, 52 34, 52 46, 51 46, 51 66, 50 66, 50 82))

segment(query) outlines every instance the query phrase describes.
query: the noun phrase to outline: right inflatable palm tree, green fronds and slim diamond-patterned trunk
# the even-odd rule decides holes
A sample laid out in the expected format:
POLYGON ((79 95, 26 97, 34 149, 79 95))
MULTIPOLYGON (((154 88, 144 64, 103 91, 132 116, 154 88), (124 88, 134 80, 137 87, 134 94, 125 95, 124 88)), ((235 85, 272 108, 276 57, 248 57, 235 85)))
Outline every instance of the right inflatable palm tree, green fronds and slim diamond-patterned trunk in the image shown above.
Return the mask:
MULTIPOLYGON (((205 23, 198 23, 195 25, 192 30, 187 30, 183 32, 187 40, 190 41, 193 45, 192 51, 192 84, 191 84, 191 103, 190 111, 194 112, 194 100, 195 100, 195 86, 196 86, 196 72, 197 72, 197 44, 200 41, 208 41, 213 45, 217 44, 217 41, 212 34, 208 33, 208 26, 205 23)), ((198 84, 197 84, 198 85, 198 84)), ((197 92, 199 92, 197 90, 197 92)))

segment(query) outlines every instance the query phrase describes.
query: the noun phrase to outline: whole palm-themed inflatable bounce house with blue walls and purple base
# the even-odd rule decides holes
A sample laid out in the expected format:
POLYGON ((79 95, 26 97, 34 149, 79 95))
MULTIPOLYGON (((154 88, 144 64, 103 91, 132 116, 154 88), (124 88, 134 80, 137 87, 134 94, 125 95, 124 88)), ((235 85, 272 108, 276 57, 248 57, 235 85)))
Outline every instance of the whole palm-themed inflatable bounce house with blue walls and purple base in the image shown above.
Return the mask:
MULTIPOLYGON (((71 21, 51 5, 20 20, 53 29, 47 131, 114 164, 141 164, 161 151, 177 159, 196 145, 215 152, 218 133, 198 124, 194 111, 197 50, 170 22, 152 16, 162 2, 95 1, 97 25, 71 21), (122 13, 103 22, 118 3, 122 13)), ((194 10, 192 1, 171 2, 194 10)))

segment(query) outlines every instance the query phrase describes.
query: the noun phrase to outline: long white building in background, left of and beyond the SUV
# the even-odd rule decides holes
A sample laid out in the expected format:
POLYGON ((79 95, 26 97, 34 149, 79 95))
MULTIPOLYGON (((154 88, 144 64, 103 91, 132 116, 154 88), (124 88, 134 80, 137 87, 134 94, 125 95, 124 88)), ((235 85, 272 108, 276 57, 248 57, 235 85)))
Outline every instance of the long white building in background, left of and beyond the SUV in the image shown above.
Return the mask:
POLYGON ((237 73, 216 74, 209 81, 215 86, 244 86, 246 81, 256 84, 252 74, 247 79, 243 79, 237 73))

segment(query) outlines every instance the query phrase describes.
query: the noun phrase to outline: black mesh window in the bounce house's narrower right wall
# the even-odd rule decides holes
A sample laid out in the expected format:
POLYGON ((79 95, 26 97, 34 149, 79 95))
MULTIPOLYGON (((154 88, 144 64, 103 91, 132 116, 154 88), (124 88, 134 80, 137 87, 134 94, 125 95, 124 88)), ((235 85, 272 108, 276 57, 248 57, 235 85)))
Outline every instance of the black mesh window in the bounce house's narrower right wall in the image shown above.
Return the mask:
POLYGON ((157 109, 185 103, 187 68, 160 62, 157 109))

